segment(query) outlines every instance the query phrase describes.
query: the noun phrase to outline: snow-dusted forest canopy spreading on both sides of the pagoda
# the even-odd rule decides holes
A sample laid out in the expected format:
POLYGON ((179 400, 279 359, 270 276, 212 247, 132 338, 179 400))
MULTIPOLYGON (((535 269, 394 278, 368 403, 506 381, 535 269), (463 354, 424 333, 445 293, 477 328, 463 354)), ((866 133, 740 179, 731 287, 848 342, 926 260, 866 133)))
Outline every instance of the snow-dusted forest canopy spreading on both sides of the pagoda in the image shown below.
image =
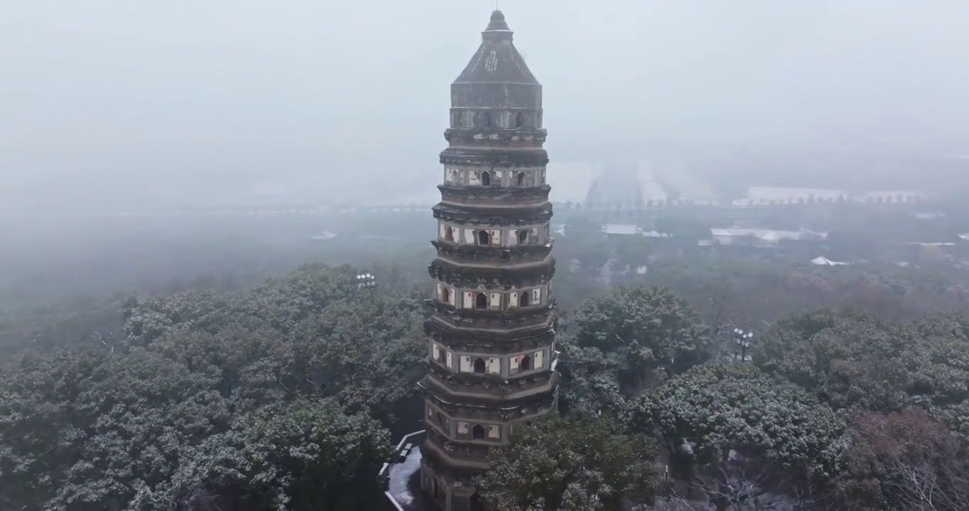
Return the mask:
MULTIPOLYGON (((494 449, 485 501, 960 509, 969 321, 955 283, 651 268, 612 289, 563 272, 555 293, 576 307, 558 333, 562 417, 494 449)), ((391 442, 421 428, 429 293, 408 264, 367 270, 381 286, 316 264, 4 317, 0 508, 380 508, 391 442)))

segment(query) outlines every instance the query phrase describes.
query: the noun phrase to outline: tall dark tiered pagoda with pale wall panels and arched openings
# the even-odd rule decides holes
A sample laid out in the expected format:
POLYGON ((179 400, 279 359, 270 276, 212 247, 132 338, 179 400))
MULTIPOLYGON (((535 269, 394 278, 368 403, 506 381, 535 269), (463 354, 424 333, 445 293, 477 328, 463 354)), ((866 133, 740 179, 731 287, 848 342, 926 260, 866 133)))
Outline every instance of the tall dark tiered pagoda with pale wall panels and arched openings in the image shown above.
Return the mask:
POLYGON ((472 477, 488 449, 557 406, 542 85, 500 11, 451 86, 444 135, 421 483, 442 509, 465 511, 480 505, 472 477))

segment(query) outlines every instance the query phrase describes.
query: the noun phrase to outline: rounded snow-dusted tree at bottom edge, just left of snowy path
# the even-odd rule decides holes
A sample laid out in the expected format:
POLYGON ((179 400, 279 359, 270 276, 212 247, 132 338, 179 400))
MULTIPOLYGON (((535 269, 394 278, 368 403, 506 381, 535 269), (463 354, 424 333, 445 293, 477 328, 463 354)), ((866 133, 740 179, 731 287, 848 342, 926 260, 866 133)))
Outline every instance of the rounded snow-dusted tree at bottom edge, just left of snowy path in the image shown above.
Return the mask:
POLYGON ((384 501, 377 472, 390 458, 388 432, 334 403, 268 406, 194 449, 162 493, 134 507, 197 511, 373 509, 384 501))

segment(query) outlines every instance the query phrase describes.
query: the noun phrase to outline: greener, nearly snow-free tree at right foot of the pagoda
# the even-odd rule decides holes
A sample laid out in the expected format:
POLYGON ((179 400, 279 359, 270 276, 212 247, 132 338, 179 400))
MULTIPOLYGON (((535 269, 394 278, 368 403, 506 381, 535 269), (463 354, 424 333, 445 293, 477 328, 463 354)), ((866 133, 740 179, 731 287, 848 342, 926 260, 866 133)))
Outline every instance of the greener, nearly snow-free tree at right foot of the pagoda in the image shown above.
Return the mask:
POLYGON ((648 436, 629 435, 608 415, 550 417, 516 425, 510 443, 488 455, 476 484, 492 509, 620 509, 623 498, 647 503, 657 482, 648 436))

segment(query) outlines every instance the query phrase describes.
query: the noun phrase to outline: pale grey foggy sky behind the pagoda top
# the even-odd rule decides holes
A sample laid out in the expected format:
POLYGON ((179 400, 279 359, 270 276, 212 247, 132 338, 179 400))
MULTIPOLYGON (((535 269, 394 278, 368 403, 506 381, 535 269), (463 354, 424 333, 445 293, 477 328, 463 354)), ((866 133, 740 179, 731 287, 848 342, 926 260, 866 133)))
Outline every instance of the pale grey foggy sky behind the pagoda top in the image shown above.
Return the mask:
MULTIPOLYGON (((323 182, 321 198, 436 182, 449 85, 493 7, 0 2, 0 200, 175 203, 273 175, 323 182)), ((969 152, 964 0, 501 9, 545 87, 558 160, 644 139, 969 152)))

